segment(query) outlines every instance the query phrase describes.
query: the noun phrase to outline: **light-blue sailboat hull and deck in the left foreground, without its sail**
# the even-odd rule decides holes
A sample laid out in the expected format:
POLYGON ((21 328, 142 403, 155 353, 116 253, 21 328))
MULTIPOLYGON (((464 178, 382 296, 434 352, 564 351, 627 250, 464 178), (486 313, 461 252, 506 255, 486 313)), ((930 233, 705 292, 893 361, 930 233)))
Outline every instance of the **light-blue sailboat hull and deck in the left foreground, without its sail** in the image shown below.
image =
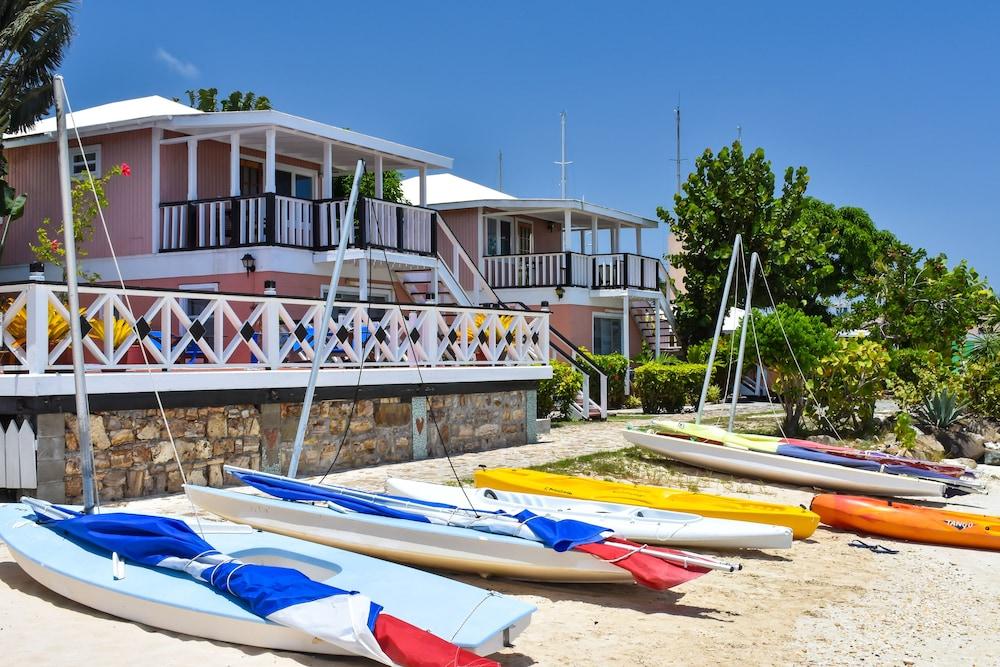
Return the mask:
MULTIPOLYGON (((0 507, 0 539, 17 564, 51 591, 128 621, 192 637, 265 649, 344 655, 300 630, 260 618, 186 574, 125 563, 32 520, 25 505, 0 507)), ((361 590, 386 611, 480 655, 500 650, 527 627, 533 607, 392 563, 280 535, 204 523, 206 539, 244 562, 292 567, 331 586, 361 590), (417 593, 415 589, 420 589, 417 593), (428 604, 436 607, 427 610, 428 604), (470 616, 471 614, 471 616, 470 616), (423 618, 420 618, 423 616, 423 618), (477 627, 478 626, 478 627, 477 627)), ((197 525, 193 525, 197 528, 197 525)))

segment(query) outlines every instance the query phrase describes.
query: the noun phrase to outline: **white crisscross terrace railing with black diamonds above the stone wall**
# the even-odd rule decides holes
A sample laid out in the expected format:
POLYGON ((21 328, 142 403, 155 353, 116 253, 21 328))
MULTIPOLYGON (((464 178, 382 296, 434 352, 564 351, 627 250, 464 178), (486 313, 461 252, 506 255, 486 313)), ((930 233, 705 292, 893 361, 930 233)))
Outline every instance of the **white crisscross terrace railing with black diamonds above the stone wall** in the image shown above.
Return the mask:
MULTIPOLYGON (((66 288, 0 286, 0 366, 43 373, 70 367, 66 288)), ((80 288, 88 370, 284 368, 311 363, 314 332, 333 343, 326 368, 518 366, 549 358, 548 314, 403 304, 338 304, 269 296, 80 288), (134 312, 128 307, 131 303, 134 312)))

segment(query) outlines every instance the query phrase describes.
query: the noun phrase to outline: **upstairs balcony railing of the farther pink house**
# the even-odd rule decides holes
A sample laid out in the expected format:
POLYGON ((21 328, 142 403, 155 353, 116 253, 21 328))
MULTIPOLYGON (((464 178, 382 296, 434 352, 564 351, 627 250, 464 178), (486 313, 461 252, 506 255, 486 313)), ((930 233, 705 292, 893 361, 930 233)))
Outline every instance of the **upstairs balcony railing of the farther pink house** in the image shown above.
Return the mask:
POLYGON ((585 287, 659 290, 667 270, 655 257, 632 253, 584 255, 577 252, 498 255, 483 260, 494 289, 585 287))

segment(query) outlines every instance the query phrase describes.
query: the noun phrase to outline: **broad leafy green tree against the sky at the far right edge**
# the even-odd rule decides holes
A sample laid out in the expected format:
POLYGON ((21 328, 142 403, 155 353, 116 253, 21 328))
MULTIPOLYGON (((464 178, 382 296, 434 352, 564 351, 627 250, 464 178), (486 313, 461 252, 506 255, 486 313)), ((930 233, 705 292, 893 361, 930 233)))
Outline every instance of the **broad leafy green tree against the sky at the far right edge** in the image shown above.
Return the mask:
POLYGON ((867 329, 886 347, 936 350, 945 357, 997 307, 996 294, 964 260, 949 268, 945 255, 931 257, 898 242, 848 293, 845 326, 867 329))

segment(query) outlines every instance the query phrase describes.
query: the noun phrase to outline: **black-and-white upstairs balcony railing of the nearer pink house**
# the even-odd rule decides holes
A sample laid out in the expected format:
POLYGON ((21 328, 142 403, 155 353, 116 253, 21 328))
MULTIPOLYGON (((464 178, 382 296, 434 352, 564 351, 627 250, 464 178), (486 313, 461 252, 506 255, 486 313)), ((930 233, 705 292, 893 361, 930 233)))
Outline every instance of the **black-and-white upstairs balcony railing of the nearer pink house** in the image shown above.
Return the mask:
MULTIPOLYGON (((346 199, 264 194, 160 204, 160 252, 244 246, 330 250, 340 239, 346 199)), ((435 211, 369 197, 358 201, 350 246, 434 255, 435 211)))

